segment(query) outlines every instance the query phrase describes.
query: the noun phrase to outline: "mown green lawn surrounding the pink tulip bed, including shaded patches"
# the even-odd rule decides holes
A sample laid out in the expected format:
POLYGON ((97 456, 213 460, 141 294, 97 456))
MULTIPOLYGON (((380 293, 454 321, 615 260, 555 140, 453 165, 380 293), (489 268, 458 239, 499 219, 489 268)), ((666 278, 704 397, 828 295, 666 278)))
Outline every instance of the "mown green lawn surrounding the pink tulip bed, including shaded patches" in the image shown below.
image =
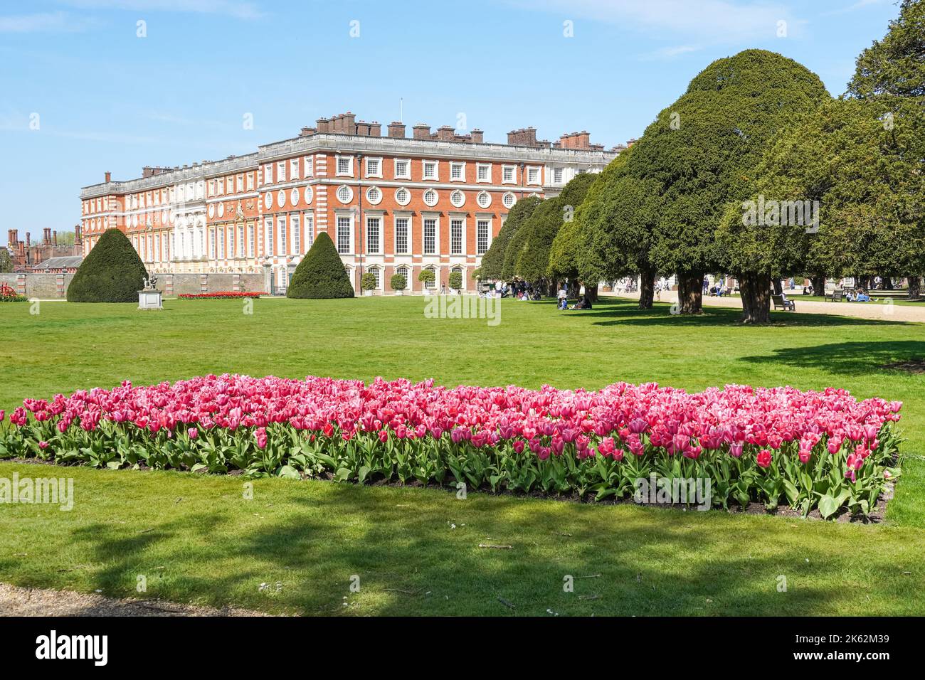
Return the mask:
MULTIPOLYGON (((925 613, 925 356, 918 324, 734 309, 502 301, 501 323, 425 318, 420 298, 0 305, 0 408, 24 397, 236 371, 598 388, 656 380, 838 386, 906 402, 904 476, 881 525, 521 500, 419 488, 68 468, 76 506, 0 509, 0 581, 233 602, 270 612, 925 613), (455 525, 455 528, 452 528, 455 525), (479 543, 510 545, 480 549, 479 543), (361 590, 351 593, 350 577, 361 590), (578 578, 562 591, 564 575, 578 578), (778 576, 787 592, 776 589, 778 576), (277 590, 277 582, 280 589, 277 590), (260 589, 260 584, 268 588, 260 589), (589 596, 597 595, 591 600, 589 596), (343 600, 344 596, 348 600, 343 600), (509 609, 499 598, 512 602, 509 609), (350 606, 343 606, 347 601, 350 606)), ((0 476, 65 474, 0 464, 0 476)))

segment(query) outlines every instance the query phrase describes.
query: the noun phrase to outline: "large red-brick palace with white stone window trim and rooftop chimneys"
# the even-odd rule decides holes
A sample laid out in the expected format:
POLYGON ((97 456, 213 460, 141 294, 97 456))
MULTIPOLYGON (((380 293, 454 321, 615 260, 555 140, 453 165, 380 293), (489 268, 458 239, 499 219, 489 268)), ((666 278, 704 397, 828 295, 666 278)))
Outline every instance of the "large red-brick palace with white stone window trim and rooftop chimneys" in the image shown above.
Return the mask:
POLYGON ((481 130, 431 132, 402 123, 319 118, 298 137, 183 167, 144 167, 142 177, 80 192, 83 254, 105 229, 121 229, 152 273, 262 273, 269 291, 285 290, 314 242, 327 231, 354 289, 366 272, 377 291, 405 275, 451 271, 475 290, 472 272, 508 211, 530 195, 556 195, 576 174, 599 172, 625 147, 605 150, 586 131, 557 142, 513 130, 486 143, 481 130))

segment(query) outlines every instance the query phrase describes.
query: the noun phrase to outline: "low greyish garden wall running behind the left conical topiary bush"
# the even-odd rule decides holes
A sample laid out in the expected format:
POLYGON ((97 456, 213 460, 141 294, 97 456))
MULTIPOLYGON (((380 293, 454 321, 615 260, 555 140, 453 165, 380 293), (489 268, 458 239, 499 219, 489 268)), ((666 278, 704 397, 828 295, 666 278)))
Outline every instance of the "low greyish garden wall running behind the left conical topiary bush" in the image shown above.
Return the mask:
MULTIPOLYGON (((0 274, 6 284, 20 295, 39 300, 58 300, 67 296, 73 274, 0 274)), ((198 294, 218 291, 263 291, 263 274, 160 274, 157 288, 167 298, 182 293, 198 294)))

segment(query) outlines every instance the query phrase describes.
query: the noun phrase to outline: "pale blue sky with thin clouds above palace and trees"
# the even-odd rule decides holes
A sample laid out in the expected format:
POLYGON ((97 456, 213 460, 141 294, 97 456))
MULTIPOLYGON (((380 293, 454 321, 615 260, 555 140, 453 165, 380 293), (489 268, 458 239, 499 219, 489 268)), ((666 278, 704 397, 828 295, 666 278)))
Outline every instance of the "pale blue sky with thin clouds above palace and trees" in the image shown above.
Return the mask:
POLYGON ((462 113, 487 142, 532 125, 610 147, 750 47, 840 94, 897 14, 894 0, 0 2, 0 243, 71 229, 105 170, 248 153, 346 110, 385 124, 402 98, 409 134, 462 113))

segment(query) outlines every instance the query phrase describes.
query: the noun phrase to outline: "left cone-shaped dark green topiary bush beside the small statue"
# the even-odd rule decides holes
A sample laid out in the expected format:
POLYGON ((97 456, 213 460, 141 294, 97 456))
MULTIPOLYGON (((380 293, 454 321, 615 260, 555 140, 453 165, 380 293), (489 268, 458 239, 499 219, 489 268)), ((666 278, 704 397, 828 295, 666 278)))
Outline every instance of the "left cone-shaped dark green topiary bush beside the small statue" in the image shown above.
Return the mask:
POLYGON ((137 303, 148 271, 131 241, 106 229, 68 286, 68 303, 137 303))

